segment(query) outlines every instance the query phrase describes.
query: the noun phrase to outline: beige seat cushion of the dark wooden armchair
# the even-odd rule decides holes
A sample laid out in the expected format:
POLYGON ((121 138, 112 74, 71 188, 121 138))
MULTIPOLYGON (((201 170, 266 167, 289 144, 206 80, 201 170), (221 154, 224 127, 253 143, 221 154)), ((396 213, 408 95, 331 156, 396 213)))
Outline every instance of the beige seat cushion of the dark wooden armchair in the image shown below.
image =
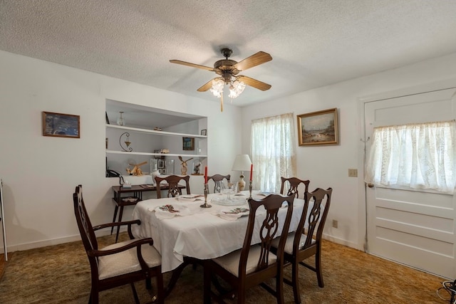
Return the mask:
MULTIPOLYGON (((101 250, 108 250, 119 248, 133 241, 138 240, 128 240, 119 243, 114 243, 112 245, 106 246, 101 250)), ((141 246, 142 258, 147 263, 147 266, 150 268, 159 266, 162 263, 162 256, 158 253, 157 249, 154 246, 149 244, 142 244, 141 246)), ((120 276, 125 273, 131 273, 134 271, 139 271, 141 269, 140 262, 138 261, 138 254, 136 252, 136 247, 130 248, 127 251, 120 253, 111 254, 109 256, 100 256, 98 258, 98 278, 100 280, 104 278, 111 278, 113 276, 120 276)))

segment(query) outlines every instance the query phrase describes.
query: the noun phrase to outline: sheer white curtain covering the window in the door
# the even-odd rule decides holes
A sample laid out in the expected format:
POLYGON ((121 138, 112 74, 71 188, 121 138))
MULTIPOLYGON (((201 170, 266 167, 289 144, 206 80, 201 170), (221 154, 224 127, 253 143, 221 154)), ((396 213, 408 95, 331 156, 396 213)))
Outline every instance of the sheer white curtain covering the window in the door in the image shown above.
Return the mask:
POLYGON ((454 120, 374 128, 366 182, 454 192, 455 135, 454 120))

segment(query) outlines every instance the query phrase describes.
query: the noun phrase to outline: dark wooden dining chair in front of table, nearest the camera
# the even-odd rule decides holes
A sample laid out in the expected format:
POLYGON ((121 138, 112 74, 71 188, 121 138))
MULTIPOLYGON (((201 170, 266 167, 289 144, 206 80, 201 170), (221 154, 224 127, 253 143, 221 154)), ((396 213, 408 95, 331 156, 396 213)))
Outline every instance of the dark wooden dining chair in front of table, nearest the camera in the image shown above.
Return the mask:
MULTIPOLYGON (((237 303, 244 303, 246 290, 256 285, 274 295, 277 303, 284 303, 283 251, 293 212, 293 200, 294 194, 270 194, 260 200, 249 199, 249 218, 242 248, 219 258, 204 260, 204 303, 210 303, 212 298, 224 303, 223 298, 233 292, 237 294, 237 303), (282 208, 284 203, 286 208, 282 208), (286 212, 281 220, 279 211, 286 212), (257 224, 256 217, 261 219, 257 220, 257 224), (252 245, 254 231, 259 234, 261 242, 252 245), (271 242, 278 233, 281 233, 279 250, 274 254, 271 252, 271 242), (229 283, 232 290, 227 293, 212 290, 211 282, 217 282, 217 278, 229 283), (275 289, 264 283, 269 278, 276 279, 275 289)), ((217 288, 217 285, 214 287, 217 288)))

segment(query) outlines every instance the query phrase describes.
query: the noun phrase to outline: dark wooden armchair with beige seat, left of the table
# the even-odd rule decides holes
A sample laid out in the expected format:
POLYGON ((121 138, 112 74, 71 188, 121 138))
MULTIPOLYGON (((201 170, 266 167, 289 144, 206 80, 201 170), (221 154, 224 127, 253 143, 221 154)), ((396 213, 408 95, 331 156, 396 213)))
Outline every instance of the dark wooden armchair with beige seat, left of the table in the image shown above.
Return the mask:
POLYGON ((139 303, 134 283, 145 280, 146 288, 151 291, 152 277, 156 278, 157 283, 157 295, 152 300, 164 303, 162 257, 152 246, 151 238, 134 239, 132 234, 132 225, 140 225, 140 220, 92 226, 83 200, 82 185, 76 186, 73 203, 79 233, 90 263, 92 286, 89 303, 98 303, 100 291, 127 284, 131 285, 135 303, 139 303), (98 248, 95 231, 112 226, 127 226, 130 240, 98 248))

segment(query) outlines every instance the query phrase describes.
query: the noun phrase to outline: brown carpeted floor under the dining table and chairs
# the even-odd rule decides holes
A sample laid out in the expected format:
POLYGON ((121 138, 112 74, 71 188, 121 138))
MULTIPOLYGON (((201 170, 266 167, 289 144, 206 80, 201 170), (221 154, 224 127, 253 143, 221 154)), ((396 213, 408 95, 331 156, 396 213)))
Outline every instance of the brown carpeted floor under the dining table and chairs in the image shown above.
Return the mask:
MULTIPOLYGON (((100 245, 111 241, 112 236, 103 236, 100 245)), ((300 276, 303 303, 449 303, 436 294, 444 279, 329 241, 323 243, 325 287, 319 288, 315 273, 304 267, 300 276)), ((165 283, 169 278, 165 274, 165 283)), ((151 300, 144 283, 138 283, 137 290, 141 303, 151 300)), ((11 253, 0 281, 4 304, 88 303, 89 292, 90 266, 81 242, 11 253)), ((293 291, 287 285, 285 293, 285 302, 293 303, 293 291)), ((100 303, 134 300, 127 286, 103 291, 100 303)), ((165 303, 202 303, 202 267, 185 268, 165 303)), ((247 303, 275 300, 262 288, 252 288, 247 303)))

